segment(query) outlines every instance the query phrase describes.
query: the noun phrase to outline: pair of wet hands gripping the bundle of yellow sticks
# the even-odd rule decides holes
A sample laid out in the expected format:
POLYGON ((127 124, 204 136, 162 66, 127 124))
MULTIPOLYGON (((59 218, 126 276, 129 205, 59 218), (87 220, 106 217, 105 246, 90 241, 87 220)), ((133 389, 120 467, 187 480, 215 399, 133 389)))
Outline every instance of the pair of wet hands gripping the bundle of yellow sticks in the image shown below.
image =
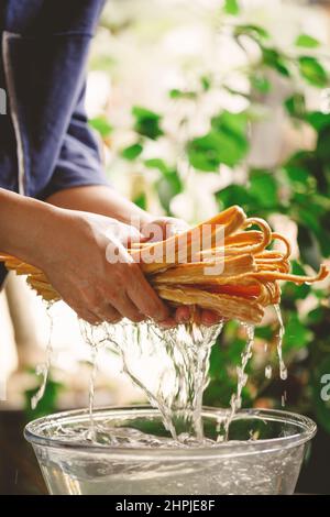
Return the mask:
MULTIPOLYGON (((154 224, 164 237, 187 229, 184 221, 162 218, 151 219, 139 231, 108 217, 61 210, 48 228, 38 265, 62 298, 92 324, 151 318, 173 327, 189 320, 189 308, 179 307, 170 314, 124 245, 146 241, 154 224), (116 263, 109 262, 109 252, 117 254, 116 263)), ((211 311, 201 311, 198 317, 205 324, 219 320, 211 311)))

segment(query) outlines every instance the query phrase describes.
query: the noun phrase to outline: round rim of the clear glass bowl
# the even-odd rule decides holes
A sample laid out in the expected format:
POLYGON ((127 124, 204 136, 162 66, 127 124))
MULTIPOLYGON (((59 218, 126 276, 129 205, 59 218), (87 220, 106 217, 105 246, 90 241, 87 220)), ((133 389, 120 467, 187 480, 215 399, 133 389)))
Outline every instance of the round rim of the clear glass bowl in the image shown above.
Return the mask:
MULTIPOLYGON (((100 407, 95 409, 96 418, 102 414, 110 414, 111 416, 123 416, 135 413, 141 415, 160 415, 160 411, 148 405, 132 405, 132 406, 109 406, 100 407)), ((217 408, 217 407, 207 407, 204 406, 202 413, 207 416, 211 414, 212 416, 217 413, 222 416, 228 413, 228 409, 217 408)), ((293 424, 297 427, 300 427, 301 432, 295 435, 289 435, 278 438, 270 438, 262 440, 251 440, 246 441, 228 441, 219 443, 219 446, 213 447, 200 447, 200 448, 183 448, 183 449, 172 449, 172 448, 128 448, 128 447, 113 447, 113 446, 102 446, 102 444, 82 444, 81 442, 72 442, 65 441, 63 439, 54 439, 43 436, 40 430, 41 427, 45 427, 47 424, 56 424, 61 420, 88 420, 89 410, 86 409, 75 409, 68 411, 61 411, 57 414, 48 415, 46 417, 37 418, 29 422, 24 428, 24 437, 32 446, 38 446, 47 449, 63 449, 66 451, 77 451, 79 453, 90 454, 110 454, 121 458, 132 458, 138 457, 140 459, 151 460, 166 457, 167 460, 178 459, 180 460, 191 460, 191 459, 201 459, 201 458, 227 458, 227 457, 241 457, 250 454, 260 454, 267 452, 275 452, 278 450, 290 449, 298 447, 311 440, 317 432, 317 425, 309 418, 304 415, 298 415, 290 411, 284 411, 278 409, 241 409, 235 415, 235 419, 241 417, 251 418, 251 419, 261 419, 261 420, 276 420, 287 424, 293 424), (249 443, 249 448, 246 448, 249 443)))

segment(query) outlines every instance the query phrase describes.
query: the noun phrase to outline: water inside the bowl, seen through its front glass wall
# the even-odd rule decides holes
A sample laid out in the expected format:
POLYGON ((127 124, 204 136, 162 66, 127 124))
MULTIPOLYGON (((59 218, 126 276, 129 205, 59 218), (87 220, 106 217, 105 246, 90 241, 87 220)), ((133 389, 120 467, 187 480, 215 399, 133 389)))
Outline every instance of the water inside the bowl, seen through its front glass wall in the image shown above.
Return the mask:
POLYGON ((128 461, 107 454, 87 461, 86 453, 73 455, 67 450, 36 452, 54 495, 287 495, 295 491, 304 449, 222 461, 128 461))

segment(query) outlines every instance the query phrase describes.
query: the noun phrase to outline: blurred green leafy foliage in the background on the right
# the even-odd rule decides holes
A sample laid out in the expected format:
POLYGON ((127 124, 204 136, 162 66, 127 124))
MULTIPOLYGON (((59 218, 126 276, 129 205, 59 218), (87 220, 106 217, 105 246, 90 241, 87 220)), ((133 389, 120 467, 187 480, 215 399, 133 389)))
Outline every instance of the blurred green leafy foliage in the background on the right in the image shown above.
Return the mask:
MULTIPOLYGON (((298 229, 300 262, 293 263, 293 272, 307 274, 310 267, 317 270, 322 257, 330 255, 330 114, 308 111, 306 88, 317 89, 330 86, 329 76, 318 57, 320 43, 309 34, 300 34, 293 42, 295 52, 277 48, 268 32, 254 24, 233 25, 233 16, 240 13, 237 0, 227 0, 223 8, 223 23, 230 18, 232 37, 245 52, 244 41, 253 41, 260 48, 260 59, 246 68, 250 92, 240 94, 221 84, 221 88, 249 100, 250 107, 242 112, 222 110, 209 121, 209 129, 198 138, 188 138, 185 144, 186 160, 198 173, 221 174, 223 165, 235 170, 246 169, 244 184, 233 182, 216 194, 219 210, 231 205, 241 205, 249 216, 268 219, 284 215, 295 221, 298 229), (296 152, 284 163, 270 169, 257 169, 248 165, 251 125, 255 122, 255 107, 263 105, 272 92, 273 77, 279 75, 287 81, 290 96, 285 99, 284 110, 294 127, 309 127, 316 133, 314 150, 296 152), (297 80, 298 78, 298 80, 297 80)), ((174 102, 198 102, 210 89, 218 88, 216 79, 202 76, 196 89, 168 92, 174 102)), ((162 114, 144 107, 132 109, 136 141, 122 150, 121 157, 154 168, 160 173, 156 190, 167 215, 170 200, 184 190, 184 180, 175 164, 164 160, 145 160, 144 147, 148 141, 166 138, 162 114)), ((183 120, 183 124, 187 121, 183 120)), ((99 124, 103 134, 103 125, 99 124)), ((96 129, 97 124, 94 123, 96 129)), ((135 199, 145 208, 145 197, 135 199)), ((329 293, 308 285, 283 286, 282 310, 285 321, 284 358, 289 376, 278 381, 276 336, 278 322, 274 321, 256 329, 254 359, 248 366, 249 382, 243 391, 244 405, 279 406, 280 395, 287 392, 287 407, 314 415, 330 432, 330 406, 321 400, 321 375, 330 373, 330 309, 329 293), (312 309, 301 312, 300 305, 309 297, 312 309), (267 346, 267 351, 265 351, 267 346), (264 370, 270 364, 274 375, 265 378, 264 370)), ((235 366, 240 364, 245 334, 235 322, 229 322, 215 345, 210 362, 210 384, 205 394, 208 405, 228 406, 237 386, 235 366)))

